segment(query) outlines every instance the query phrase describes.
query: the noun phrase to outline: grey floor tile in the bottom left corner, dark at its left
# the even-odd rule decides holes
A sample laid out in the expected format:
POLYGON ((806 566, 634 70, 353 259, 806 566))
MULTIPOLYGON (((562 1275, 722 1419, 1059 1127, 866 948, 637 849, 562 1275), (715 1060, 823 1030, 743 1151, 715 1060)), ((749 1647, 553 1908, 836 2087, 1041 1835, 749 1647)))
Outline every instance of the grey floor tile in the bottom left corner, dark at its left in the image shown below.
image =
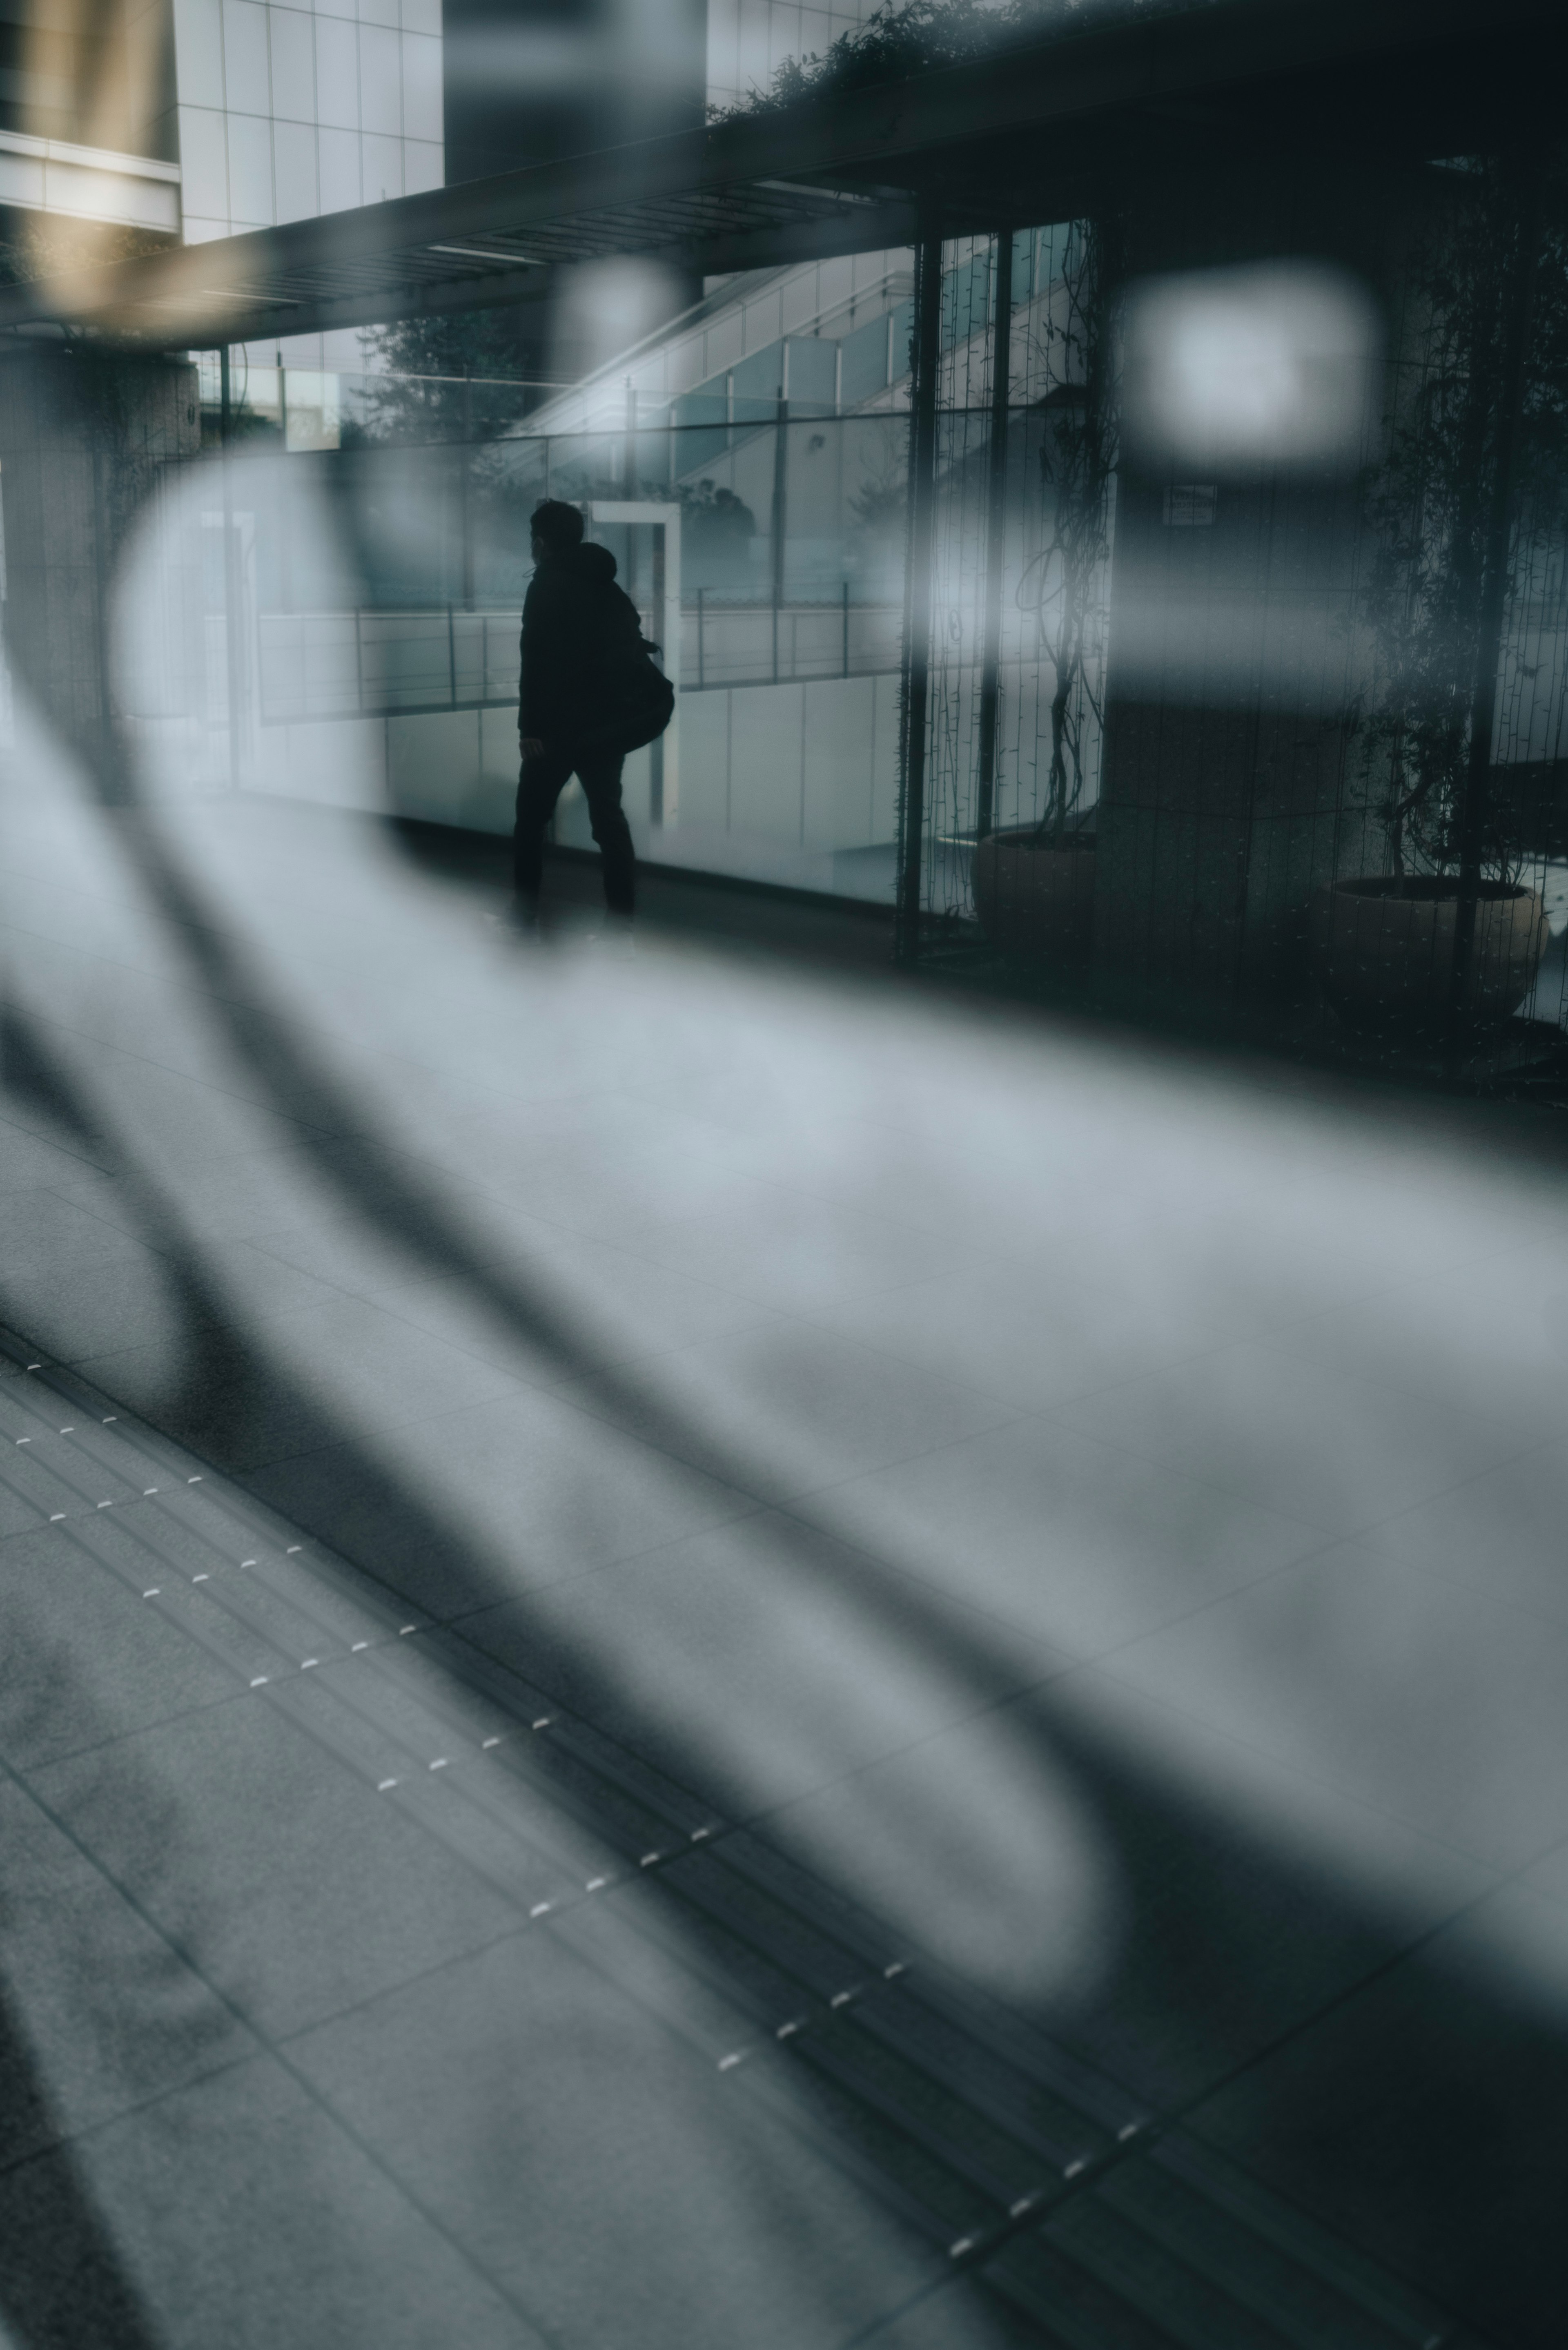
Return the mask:
POLYGON ((28 2343, 543 2350, 266 2059, 0 2176, 0 2308, 28 2343))

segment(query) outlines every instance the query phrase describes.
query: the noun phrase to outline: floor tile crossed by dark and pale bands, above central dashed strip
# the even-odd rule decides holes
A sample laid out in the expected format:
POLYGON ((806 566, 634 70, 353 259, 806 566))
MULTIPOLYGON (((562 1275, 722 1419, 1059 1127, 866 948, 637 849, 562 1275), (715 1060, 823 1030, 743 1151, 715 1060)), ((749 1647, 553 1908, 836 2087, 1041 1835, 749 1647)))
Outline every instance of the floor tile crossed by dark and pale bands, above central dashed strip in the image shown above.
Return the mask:
POLYGON ((731 1817, 1065 1666, 776 1513, 550 1584, 461 1631, 731 1817))

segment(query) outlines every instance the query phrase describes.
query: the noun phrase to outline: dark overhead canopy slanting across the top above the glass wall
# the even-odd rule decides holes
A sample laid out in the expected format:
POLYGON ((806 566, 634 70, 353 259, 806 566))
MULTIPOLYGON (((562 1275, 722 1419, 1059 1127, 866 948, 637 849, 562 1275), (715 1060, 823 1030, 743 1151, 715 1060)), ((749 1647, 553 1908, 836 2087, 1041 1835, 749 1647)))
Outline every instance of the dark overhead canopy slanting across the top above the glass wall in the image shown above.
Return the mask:
POLYGON ((538 298, 559 263, 696 273, 1067 219, 1194 157, 1453 155, 1549 127, 1561 0, 1126 0, 1027 45, 639 146, 0 289, 195 348, 538 298))

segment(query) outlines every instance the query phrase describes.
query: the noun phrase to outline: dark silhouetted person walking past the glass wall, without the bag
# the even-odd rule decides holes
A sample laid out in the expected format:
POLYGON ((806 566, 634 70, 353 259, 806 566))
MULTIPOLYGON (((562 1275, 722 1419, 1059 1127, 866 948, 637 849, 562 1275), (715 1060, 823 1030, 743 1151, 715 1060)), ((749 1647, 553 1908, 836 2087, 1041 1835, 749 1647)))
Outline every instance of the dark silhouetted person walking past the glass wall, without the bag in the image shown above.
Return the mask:
POLYGON ((545 830, 555 801, 576 773, 599 844, 604 905, 616 921, 630 921, 637 860, 621 806, 625 752, 614 747, 614 726, 607 726, 607 686, 637 656, 637 606, 616 588, 616 557, 609 548, 583 545, 583 515, 576 505, 545 498, 534 508, 529 526, 536 569, 522 606, 522 773, 512 834, 517 916, 524 928, 538 916, 545 830))

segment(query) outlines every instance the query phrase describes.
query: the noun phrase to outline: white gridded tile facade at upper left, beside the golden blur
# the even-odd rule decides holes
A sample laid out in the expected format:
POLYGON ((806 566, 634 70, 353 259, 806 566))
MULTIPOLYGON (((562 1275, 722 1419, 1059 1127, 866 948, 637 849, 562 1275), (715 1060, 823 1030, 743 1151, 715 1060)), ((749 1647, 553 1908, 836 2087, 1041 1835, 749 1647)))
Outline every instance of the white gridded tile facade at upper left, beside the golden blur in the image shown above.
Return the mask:
POLYGON ((186 240, 440 188, 440 0, 174 0, 186 240))

